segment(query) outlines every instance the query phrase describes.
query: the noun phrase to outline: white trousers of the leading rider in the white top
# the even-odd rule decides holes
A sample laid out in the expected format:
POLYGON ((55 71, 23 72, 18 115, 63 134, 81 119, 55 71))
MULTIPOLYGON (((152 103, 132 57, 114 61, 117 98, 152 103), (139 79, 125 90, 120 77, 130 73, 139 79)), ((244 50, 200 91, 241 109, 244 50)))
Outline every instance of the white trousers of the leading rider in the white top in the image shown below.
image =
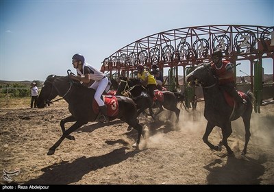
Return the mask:
POLYGON ((104 106, 105 103, 101 99, 101 95, 105 91, 105 88, 108 86, 108 77, 105 77, 99 81, 95 81, 90 88, 95 89, 95 101, 97 101, 98 106, 104 106))

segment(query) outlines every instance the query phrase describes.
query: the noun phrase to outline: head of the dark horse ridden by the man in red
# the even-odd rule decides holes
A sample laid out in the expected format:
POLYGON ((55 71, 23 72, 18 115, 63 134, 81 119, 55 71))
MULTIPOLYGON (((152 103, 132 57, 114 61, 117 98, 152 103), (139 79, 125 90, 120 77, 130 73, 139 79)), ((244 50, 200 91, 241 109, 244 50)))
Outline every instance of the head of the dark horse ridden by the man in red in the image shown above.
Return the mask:
POLYGON ((197 68, 186 76, 188 86, 201 85, 211 86, 216 82, 209 63, 201 63, 197 68))

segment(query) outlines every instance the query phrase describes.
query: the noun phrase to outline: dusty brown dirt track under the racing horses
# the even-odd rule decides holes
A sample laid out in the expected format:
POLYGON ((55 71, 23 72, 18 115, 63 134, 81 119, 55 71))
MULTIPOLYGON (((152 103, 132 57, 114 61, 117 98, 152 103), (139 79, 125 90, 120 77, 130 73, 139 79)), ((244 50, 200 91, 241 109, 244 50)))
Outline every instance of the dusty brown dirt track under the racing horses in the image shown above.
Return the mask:
MULTIPOLYGON (((88 123, 65 139, 55 154, 49 147, 61 136, 60 119, 69 110, 64 101, 44 109, 0 109, 1 173, 20 169, 11 183, 18 184, 274 184, 274 106, 253 112, 247 155, 240 156, 245 131, 242 119, 232 123, 229 145, 215 152, 203 143, 206 128, 203 102, 196 112, 181 110, 177 126, 141 119, 147 131, 141 149, 131 146, 136 131, 120 120, 88 123)), ((174 115, 175 116, 175 115, 174 115)), ((164 120, 162 114, 160 120, 164 120)), ((221 130, 210 141, 218 144, 221 130)), ((1 177, 1 184, 7 184, 1 177)))

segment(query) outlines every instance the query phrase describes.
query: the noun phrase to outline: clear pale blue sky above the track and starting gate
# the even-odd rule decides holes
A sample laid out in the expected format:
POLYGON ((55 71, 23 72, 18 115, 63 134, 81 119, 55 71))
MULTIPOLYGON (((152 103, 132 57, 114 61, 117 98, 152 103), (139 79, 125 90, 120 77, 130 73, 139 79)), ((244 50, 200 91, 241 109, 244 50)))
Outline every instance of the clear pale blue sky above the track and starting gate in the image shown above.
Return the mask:
MULTIPOLYGON (((0 80, 66 75, 82 53, 97 69, 134 41, 199 25, 274 25, 274 1, 1 1, 0 80)), ((264 73, 272 74, 272 61, 264 73)), ((241 64, 249 73, 249 65, 241 64)), ((239 75, 245 75, 238 73, 239 75)))

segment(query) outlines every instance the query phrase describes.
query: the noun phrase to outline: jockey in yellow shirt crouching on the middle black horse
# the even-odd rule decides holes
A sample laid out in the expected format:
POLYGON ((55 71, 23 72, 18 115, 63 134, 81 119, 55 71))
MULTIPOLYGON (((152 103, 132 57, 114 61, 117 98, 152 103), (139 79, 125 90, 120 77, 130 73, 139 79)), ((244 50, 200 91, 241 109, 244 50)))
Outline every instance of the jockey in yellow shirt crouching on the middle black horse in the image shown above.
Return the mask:
POLYGON ((154 90, 156 89, 156 80, 153 75, 149 73, 149 71, 145 70, 145 67, 142 64, 138 64, 138 79, 140 80, 141 84, 147 88, 147 92, 149 96, 153 100, 154 97, 154 90))

